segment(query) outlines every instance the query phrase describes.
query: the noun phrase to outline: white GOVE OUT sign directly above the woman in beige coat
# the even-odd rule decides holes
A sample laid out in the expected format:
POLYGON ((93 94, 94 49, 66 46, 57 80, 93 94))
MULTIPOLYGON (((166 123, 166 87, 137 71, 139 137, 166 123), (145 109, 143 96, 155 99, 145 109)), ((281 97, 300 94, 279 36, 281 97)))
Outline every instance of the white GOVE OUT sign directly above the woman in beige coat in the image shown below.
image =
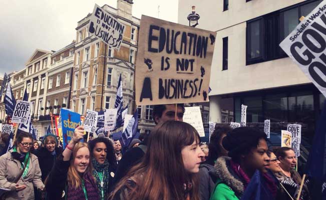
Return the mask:
POLYGON ((26 124, 32 109, 32 102, 17 100, 12 122, 26 124))

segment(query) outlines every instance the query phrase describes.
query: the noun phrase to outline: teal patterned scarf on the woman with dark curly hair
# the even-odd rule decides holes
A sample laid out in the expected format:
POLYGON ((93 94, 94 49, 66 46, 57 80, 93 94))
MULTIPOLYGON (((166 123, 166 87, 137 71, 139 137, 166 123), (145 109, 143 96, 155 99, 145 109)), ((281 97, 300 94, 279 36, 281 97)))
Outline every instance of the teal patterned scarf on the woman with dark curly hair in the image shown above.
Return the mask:
POLYGON ((104 161, 103 164, 100 164, 98 161, 96 161, 96 159, 93 157, 92 158, 92 164, 93 164, 93 177, 95 178, 96 180, 96 185, 97 185, 97 188, 99 190, 99 195, 101 196, 101 199, 104 200, 107 198, 107 194, 108 194, 108 188, 109 188, 109 162, 108 160, 106 159, 104 161), (101 191, 101 179, 99 177, 99 173, 102 173, 102 181, 103 181, 103 193, 104 193, 104 198, 102 198, 102 191, 101 191))

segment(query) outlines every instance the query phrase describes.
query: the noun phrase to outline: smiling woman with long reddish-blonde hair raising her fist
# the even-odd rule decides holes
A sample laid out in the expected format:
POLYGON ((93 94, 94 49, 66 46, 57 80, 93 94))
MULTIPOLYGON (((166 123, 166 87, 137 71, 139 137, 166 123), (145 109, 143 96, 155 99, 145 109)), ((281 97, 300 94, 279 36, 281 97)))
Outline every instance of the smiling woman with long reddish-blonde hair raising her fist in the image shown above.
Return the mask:
POLYGON ((79 142, 83 134, 84 128, 77 127, 72 140, 57 158, 45 181, 48 200, 100 199, 92 176, 90 150, 86 142, 79 142))

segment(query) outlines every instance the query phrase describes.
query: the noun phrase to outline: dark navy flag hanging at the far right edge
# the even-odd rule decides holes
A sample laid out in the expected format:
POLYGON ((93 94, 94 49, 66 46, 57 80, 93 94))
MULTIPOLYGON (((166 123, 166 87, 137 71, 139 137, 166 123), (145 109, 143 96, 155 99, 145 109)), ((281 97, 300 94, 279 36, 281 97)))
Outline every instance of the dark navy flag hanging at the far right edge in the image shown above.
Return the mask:
POLYGON ((326 101, 316 125, 308 156, 306 174, 322 184, 322 199, 326 200, 326 101))

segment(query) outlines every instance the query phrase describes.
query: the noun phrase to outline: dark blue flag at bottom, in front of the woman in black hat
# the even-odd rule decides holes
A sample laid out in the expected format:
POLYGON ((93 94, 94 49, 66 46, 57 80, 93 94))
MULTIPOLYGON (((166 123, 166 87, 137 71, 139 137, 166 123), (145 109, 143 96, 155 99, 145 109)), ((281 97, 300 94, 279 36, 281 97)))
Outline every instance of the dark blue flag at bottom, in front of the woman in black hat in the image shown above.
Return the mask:
POLYGON ((244 190, 241 200, 273 200, 274 197, 268 189, 264 177, 259 170, 256 170, 250 182, 244 190))

